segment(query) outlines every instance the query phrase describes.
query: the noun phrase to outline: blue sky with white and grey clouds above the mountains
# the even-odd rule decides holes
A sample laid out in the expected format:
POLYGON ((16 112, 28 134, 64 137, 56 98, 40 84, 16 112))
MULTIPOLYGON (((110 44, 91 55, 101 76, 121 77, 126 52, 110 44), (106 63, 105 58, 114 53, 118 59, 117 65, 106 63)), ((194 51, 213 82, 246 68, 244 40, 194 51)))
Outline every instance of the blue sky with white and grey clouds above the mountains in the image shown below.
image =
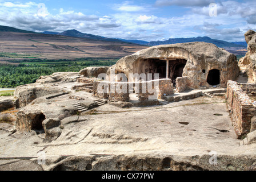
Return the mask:
POLYGON ((256 1, 0 0, 0 25, 148 42, 197 36, 244 42, 245 32, 256 30, 256 1))

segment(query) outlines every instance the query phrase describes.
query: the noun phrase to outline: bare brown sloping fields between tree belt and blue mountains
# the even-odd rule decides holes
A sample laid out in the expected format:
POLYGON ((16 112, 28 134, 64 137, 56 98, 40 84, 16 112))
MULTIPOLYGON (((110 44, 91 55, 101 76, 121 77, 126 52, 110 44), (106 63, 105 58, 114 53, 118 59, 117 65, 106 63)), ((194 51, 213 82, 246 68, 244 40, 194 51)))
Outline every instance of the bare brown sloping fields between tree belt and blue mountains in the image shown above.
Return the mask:
POLYGON ((147 46, 61 35, 1 32, 0 61, 24 59, 116 58, 131 55, 147 46))

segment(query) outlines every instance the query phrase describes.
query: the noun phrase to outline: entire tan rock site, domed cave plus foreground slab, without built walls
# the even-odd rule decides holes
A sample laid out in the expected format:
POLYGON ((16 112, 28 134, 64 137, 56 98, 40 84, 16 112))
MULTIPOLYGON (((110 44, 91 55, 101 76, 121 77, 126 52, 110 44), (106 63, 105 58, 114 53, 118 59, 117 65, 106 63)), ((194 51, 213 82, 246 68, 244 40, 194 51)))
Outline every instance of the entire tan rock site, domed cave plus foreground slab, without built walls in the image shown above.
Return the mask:
MULTIPOLYGON (((119 60, 114 68, 116 73, 149 72, 145 62, 161 68, 164 58, 175 58, 169 60, 171 69, 177 68, 174 77, 187 61, 183 76, 195 88, 207 86, 212 69, 219 69, 220 84, 237 73, 234 55, 206 43, 145 49, 119 60)), ((75 90, 85 85, 75 82, 80 77, 54 73, 15 90, 17 120, 0 122, 0 170, 256 169, 256 132, 240 143, 223 97, 132 107, 130 102, 101 102, 92 93, 75 90)), ((181 78, 177 84, 186 89, 181 78)), ((171 80, 163 80, 172 86, 171 80)))

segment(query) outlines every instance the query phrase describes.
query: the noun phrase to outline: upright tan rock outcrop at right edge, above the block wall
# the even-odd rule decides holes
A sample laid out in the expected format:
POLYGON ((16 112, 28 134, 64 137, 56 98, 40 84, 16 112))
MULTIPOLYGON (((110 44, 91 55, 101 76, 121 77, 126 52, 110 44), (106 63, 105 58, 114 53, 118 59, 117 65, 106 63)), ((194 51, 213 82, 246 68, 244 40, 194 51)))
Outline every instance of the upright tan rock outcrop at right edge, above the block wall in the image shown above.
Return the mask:
POLYGON ((256 32, 249 30, 245 33, 245 40, 248 44, 245 57, 239 60, 239 65, 246 66, 246 75, 249 83, 256 82, 256 32))

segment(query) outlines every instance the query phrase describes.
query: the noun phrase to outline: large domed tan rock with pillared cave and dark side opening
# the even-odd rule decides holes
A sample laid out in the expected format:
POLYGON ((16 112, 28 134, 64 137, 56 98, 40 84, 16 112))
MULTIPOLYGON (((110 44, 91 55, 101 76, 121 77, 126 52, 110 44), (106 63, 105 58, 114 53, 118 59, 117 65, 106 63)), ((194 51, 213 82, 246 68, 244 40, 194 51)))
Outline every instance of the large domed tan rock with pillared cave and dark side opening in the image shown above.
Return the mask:
POLYGON ((125 73, 127 78, 129 73, 159 73, 160 78, 166 78, 166 60, 169 60, 169 78, 173 84, 177 77, 187 76, 191 80, 190 87, 194 89, 218 84, 225 88, 227 80, 235 80, 239 75, 235 55, 204 42, 143 49, 120 59, 107 74, 110 75, 114 69, 115 74, 125 73), (214 75, 216 70, 217 75, 214 75))

